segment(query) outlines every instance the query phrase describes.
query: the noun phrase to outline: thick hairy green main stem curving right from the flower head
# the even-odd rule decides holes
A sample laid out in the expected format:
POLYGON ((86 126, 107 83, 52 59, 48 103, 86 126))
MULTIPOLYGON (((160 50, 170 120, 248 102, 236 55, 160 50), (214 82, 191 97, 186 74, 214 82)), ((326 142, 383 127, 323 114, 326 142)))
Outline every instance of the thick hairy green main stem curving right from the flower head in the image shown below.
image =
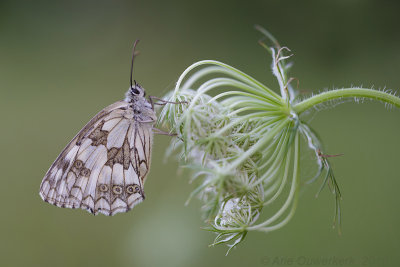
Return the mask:
POLYGON ((388 103, 390 105, 394 105, 398 108, 400 108, 400 98, 389 94, 385 93, 382 91, 378 90, 373 90, 373 89, 365 89, 365 88, 346 88, 346 89, 336 89, 332 91, 327 91, 320 93, 318 95, 312 96, 306 100, 301 101, 300 103, 297 103, 294 105, 293 110, 297 114, 301 114, 307 109, 310 109, 320 103, 334 100, 334 99, 340 99, 340 98, 348 98, 348 97, 362 97, 362 98, 370 98, 374 100, 379 100, 385 103, 388 103))

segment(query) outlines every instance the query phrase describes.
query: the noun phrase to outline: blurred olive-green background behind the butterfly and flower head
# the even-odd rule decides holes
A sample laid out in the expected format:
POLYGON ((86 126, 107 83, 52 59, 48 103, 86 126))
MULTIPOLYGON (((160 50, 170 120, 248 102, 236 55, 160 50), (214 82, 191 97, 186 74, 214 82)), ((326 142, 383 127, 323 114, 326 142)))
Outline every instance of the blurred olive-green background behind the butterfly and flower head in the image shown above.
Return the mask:
POLYGON ((165 136, 155 138, 146 201, 132 212, 94 217, 38 195, 68 141, 123 97, 135 39, 135 78, 155 96, 202 59, 277 87, 256 23, 292 49, 301 90, 396 90, 399 10, 399 2, 361 0, 1 1, 0 265, 319 266, 315 260, 336 258, 399 266, 400 111, 380 103, 342 104, 311 122, 327 153, 345 154, 332 159, 343 193, 341 236, 332 230, 331 194, 314 197, 317 182, 283 229, 250 233, 228 257, 226 247, 208 248, 214 235, 200 229, 197 200, 184 206, 193 187, 175 161, 165 162, 165 136))

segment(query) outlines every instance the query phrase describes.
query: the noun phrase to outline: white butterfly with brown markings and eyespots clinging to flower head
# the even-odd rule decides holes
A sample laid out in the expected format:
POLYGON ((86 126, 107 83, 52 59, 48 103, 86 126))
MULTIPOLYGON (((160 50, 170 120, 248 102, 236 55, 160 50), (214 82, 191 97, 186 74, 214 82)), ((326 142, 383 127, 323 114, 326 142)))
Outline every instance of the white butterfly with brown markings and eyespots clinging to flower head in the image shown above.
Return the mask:
MULTIPOLYGON (((41 198, 94 215, 127 212, 145 199, 156 113, 136 81, 125 99, 94 116, 69 142, 44 176, 41 198)), ((165 101, 167 102, 167 101, 165 101)))

